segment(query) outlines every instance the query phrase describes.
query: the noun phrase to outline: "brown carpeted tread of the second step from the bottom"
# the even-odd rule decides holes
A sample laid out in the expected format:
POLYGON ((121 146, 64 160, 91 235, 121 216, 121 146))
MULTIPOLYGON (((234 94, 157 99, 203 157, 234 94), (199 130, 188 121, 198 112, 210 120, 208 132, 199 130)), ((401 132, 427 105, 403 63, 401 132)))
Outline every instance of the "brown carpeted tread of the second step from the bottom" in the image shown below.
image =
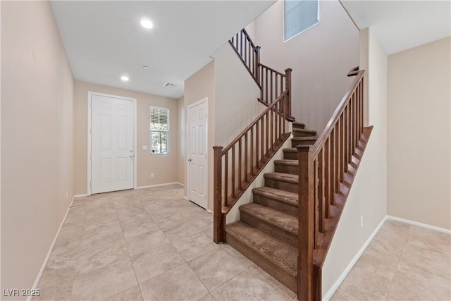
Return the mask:
POLYGON ((299 221, 295 216, 284 214, 276 209, 257 203, 248 203, 240 206, 240 212, 254 216, 276 228, 282 229, 292 235, 299 233, 299 221))

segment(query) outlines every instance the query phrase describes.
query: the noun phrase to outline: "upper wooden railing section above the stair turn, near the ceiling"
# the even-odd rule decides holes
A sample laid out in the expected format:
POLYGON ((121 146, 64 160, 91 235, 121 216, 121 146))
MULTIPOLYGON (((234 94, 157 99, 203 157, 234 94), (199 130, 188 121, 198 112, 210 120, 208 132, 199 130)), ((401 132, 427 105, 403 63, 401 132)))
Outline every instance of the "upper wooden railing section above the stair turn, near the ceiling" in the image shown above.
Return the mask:
POLYGON ((232 39, 229 40, 230 45, 235 50, 237 56, 254 78, 260 89, 259 102, 268 106, 272 104, 285 91, 288 91, 286 108, 288 111, 288 121, 295 121, 291 115, 291 69, 285 69, 285 74, 274 70, 271 67, 260 63, 259 46, 255 46, 252 39, 245 29, 240 30, 232 39))

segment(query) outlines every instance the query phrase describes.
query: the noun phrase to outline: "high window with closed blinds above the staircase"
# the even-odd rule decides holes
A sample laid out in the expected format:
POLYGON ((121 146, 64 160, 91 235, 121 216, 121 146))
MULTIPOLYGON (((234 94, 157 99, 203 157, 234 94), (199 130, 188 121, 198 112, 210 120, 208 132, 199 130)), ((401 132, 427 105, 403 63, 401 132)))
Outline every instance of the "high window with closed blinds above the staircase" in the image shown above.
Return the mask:
POLYGON ((287 42, 319 22, 318 0, 283 1, 283 40, 287 42))

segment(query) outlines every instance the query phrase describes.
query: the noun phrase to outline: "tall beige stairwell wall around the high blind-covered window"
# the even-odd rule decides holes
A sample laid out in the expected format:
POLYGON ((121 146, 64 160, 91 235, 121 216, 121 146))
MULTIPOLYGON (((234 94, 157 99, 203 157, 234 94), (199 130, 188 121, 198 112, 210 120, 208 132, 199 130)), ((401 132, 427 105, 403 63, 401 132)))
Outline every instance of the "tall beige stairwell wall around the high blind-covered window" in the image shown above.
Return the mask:
POLYGON ((320 1, 319 24, 283 42, 283 1, 257 18, 254 42, 261 63, 284 72, 292 68, 292 115, 321 132, 350 87, 359 64, 359 31, 338 0, 320 1))

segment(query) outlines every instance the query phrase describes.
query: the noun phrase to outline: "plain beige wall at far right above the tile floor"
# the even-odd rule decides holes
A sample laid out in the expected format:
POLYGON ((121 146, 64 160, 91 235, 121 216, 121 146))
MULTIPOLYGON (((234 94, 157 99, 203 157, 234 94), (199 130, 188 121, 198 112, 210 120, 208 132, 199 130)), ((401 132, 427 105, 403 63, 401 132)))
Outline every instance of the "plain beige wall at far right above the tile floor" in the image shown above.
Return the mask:
POLYGON ((451 38, 388 57, 388 214, 451 228, 451 38))

